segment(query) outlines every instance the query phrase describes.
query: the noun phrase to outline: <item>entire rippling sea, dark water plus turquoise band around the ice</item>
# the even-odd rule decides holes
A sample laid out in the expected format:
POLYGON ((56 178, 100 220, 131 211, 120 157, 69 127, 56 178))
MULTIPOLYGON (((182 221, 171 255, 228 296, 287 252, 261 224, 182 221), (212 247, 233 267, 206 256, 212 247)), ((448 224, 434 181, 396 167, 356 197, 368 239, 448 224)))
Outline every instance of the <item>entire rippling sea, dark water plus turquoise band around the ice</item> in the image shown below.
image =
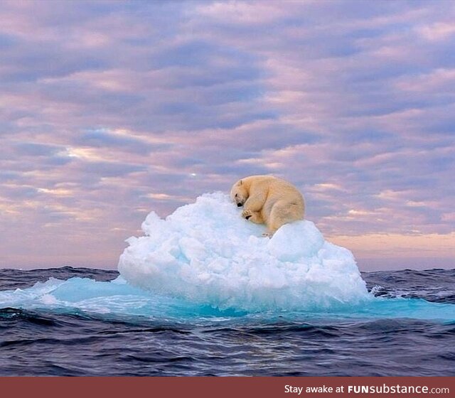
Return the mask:
POLYGON ((371 303, 321 313, 166 304, 117 276, 0 270, 0 375, 455 375, 455 269, 363 273, 371 303))

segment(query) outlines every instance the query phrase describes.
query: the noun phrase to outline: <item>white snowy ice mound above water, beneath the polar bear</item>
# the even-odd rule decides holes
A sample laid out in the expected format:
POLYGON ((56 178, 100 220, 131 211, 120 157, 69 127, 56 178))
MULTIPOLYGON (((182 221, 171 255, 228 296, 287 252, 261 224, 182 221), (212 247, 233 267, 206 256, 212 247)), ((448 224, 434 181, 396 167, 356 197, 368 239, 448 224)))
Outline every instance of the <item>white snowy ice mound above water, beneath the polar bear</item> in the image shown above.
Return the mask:
POLYGON ((313 222, 272 238, 240 217, 224 193, 205 194, 130 237, 119 271, 132 286, 221 310, 328 310, 369 301, 353 254, 326 242, 313 222))

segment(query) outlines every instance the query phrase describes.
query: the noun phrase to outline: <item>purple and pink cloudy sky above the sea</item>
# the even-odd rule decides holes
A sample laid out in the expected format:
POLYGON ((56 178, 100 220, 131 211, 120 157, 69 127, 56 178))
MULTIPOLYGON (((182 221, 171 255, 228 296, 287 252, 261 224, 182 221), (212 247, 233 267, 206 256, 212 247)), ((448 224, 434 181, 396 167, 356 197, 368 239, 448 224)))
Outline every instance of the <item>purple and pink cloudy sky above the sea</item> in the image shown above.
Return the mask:
POLYGON ((272 174, 360 269, 453 268, 454 171, 454 1, 0 2, 0 267, 272 174))

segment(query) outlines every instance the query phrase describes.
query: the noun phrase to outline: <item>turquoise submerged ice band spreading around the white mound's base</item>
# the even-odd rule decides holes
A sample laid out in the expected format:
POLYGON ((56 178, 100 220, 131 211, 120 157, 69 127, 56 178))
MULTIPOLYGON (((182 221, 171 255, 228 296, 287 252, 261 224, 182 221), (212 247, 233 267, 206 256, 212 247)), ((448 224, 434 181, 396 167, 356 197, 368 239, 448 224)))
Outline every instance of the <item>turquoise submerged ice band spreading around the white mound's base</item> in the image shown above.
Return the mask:
MULTIPOLYGON (((136 322, 178 322, 198 325, 220 322, 270 323, 277 321, 312 322, 346 321, 368 318, 417 318, 454 322, 455 306, 430 303, 417 298, 372 298, 352 306, 332 306, 297 311, 262 311, 260 313, 220 311, 206 304, 191 303, 181 298, 161 296, 131 286, 122 279, 101 282, 71 278, 66 281, 50 278, 27 289, 0 291, 0 308, 22 308, 33 311, 70 313, 136 322)), ((1 318, 1 316, 0 316, 1 318)))

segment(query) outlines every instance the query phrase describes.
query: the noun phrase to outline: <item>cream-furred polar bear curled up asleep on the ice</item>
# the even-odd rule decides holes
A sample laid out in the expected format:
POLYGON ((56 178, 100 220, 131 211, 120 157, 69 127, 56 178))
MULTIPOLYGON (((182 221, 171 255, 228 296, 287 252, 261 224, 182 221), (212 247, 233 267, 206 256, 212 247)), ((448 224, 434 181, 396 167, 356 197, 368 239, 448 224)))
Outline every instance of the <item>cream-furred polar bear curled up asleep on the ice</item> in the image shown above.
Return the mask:
POLYGON ((303 220, 305 201, 291 183, 272 176, 250 176, 232 185, 230 198, 243 206, 242 217, 267 225, 272 236, 284 224, 303 220))

